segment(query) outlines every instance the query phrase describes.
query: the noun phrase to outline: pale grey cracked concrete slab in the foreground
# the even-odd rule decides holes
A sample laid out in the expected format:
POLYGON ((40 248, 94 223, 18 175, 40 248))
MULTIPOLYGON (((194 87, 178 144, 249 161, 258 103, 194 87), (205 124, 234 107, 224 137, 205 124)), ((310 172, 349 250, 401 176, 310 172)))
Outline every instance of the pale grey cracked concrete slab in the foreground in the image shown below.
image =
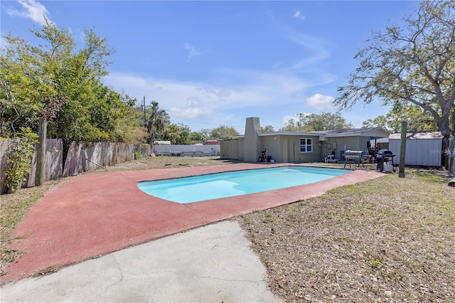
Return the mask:
POLYGON ((1 302, 282 302, 234 221, 178 233, 0 289, 1 302))

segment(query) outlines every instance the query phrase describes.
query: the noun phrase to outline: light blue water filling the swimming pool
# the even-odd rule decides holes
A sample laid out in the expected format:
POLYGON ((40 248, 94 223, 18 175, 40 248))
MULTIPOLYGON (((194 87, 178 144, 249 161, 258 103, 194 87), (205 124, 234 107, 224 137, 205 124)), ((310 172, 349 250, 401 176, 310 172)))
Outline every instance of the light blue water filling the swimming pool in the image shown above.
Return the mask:
POLYGON ((145 181, 140 182, 138 187, 141 191, 164 200, 191 203, 310 184, 348 172, 342 169, 283 166, 145 181))

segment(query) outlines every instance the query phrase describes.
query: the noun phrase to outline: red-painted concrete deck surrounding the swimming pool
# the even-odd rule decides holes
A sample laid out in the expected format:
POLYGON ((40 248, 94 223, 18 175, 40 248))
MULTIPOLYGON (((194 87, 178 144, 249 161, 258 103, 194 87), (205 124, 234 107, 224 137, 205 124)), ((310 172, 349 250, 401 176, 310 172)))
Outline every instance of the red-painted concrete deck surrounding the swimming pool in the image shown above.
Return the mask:
POLYGON ((24 253, 4 269, 9 273, 0 277, 0 282, 383 176, 377 171, 357 170, 314 184, 187 204, 149 196, 137 187, 140 181, 287 165, 291 164, 232 164, 74 176, 41 198, 18 224, 14 230, 18 240, 11 249, 24 253))

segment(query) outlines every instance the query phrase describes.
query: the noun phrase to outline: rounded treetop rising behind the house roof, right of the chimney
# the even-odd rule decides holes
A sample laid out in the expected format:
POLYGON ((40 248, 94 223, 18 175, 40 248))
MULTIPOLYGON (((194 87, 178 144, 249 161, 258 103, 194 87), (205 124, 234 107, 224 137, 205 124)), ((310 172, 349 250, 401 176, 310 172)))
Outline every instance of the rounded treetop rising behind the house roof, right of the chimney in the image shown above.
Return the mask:
POLYGON ((346 122, 339 112, 322 112, 321 114, 299 113, 296 119, 289 119, 284 127, 279 129, 284 132, 314 132, 322 130, 350 129, 352 124, 346 122))

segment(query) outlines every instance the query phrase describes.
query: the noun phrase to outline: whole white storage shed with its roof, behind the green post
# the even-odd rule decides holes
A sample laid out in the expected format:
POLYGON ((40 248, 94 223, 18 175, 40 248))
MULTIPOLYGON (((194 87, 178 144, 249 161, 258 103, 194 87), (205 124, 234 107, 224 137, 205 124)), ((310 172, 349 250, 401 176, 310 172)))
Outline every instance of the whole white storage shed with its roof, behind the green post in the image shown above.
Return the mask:
MULTIPOLYGON (((441 132, 408 132, 406 134, 405 165, 441 166, 441 132)), ((395 164, 400 161, 401 134, 390 134, 389 150, 395 154, 395 164)))

